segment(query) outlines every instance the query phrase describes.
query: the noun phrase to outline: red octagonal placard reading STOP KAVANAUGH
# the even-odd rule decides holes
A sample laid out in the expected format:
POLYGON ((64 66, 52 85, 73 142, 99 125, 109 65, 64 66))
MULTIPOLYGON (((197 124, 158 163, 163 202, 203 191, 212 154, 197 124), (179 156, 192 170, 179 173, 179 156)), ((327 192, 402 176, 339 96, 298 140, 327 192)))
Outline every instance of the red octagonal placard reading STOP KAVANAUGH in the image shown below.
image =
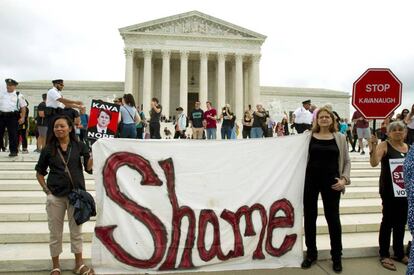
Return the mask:
POLYGON ((383 119, 401 105, 402 83, 390 69, 368 69, 355 82, 352 105, 366 118, 383 119))

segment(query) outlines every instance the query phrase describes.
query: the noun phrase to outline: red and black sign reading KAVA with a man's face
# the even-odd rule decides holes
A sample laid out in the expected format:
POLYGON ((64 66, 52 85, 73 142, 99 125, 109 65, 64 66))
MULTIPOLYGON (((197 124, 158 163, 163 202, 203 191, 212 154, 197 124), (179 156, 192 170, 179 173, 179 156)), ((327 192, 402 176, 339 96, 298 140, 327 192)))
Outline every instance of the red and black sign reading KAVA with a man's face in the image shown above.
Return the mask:
POLYGON ((89 114, 89 139, 114 138, 118 130, 120 106, 100 100, 92 100, 89 114))

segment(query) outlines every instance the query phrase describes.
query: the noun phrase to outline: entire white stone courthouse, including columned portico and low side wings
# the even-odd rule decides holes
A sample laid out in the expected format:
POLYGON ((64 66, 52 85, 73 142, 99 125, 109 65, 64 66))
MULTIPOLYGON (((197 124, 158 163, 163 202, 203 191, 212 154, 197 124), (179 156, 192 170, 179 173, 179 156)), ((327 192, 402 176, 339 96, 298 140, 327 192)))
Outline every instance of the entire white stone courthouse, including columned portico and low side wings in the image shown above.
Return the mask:
MULTIPOLYGON (((331 103, 341 117, 349 117, 350 95, 321 88, 261 87, 261 46, 266 36, 198 11, 191 11, 119 29, 124 40, 125 82, 70 81, 63 96, 83 101, 111 101, 132 93, 148 117, 150 101, 157 97, 163 115, 173 117, 181 106, 191 112, 211 101, 220 110, 226 103, 238 121, 248 105, 277 102, 293 112, 311 99, 317 106, 331 103)), ((114 38, 116 39, 116 38, 114 38)), ((116 54, 116 53, 115 53, 116 54)), ((73 68, 76 70, 76 68, 73 68)), ((19 81, 18 89, 31 106, 52 85, 47 81, 19 81)), ((32 113, 33 114, 33 113, 32 113)))

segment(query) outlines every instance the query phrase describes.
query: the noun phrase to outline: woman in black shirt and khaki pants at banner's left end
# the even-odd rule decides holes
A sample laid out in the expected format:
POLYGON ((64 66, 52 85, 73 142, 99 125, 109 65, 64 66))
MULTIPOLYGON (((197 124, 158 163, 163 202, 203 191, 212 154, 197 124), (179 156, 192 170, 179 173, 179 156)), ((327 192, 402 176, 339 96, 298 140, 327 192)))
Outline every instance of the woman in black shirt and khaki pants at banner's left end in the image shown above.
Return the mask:
POLYGON ((59 255, 62 253, 63 225, 67 212, 71 251, 75 254, 73 272, 92 275, 93 269, 83 263, 82 225, 76 224, 73 217, 74 207, 68 200, 73 185, 85 190, 82 166, 86 172, 91 174, 92 157, 86 144, 76 138, 75 126, 69 117, 57 116, 50 125, 53 126, 52 131, 35 168, 36 178, 46 194, 46 212, 50 231, 49 248, 53 263, 50 274, 61 274, 59 255), (48 172, 46 183, 45 176, 48 172))

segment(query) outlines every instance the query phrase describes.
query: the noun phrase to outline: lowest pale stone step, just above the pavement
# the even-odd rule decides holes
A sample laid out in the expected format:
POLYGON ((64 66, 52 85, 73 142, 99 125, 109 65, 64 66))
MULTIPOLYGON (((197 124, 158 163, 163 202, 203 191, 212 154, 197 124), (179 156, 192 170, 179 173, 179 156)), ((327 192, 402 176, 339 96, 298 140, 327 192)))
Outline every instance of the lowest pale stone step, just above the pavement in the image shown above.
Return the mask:
MULTIPOLYGON (((406 232, 404 243, 411 239, 406 232)), ((304 242, 304 240, 303 240, 304 242)), ((345 233, 342 234, 343 257, 374 257, 378 255, 378 233, 345 233)), ((330 259, 329 235, 318 235, 317 245, 319 259, 330 259)), ((306 249, 305 244, 303 244, 306 249)), ((83 244, 83 256, 86 264, 90 265, 91 243, 83 244)), ((71 270, 74 265, 73 254, 70 253, 70 244, 63 244, 63 253, 60 255, 61 268, 71 270)), ((47 243, 0 244, 0 272, 29 272, 50 271, 51 261, 49 245, 47 243)), ((252 273, 253 274, 253 273, 252 273)))

